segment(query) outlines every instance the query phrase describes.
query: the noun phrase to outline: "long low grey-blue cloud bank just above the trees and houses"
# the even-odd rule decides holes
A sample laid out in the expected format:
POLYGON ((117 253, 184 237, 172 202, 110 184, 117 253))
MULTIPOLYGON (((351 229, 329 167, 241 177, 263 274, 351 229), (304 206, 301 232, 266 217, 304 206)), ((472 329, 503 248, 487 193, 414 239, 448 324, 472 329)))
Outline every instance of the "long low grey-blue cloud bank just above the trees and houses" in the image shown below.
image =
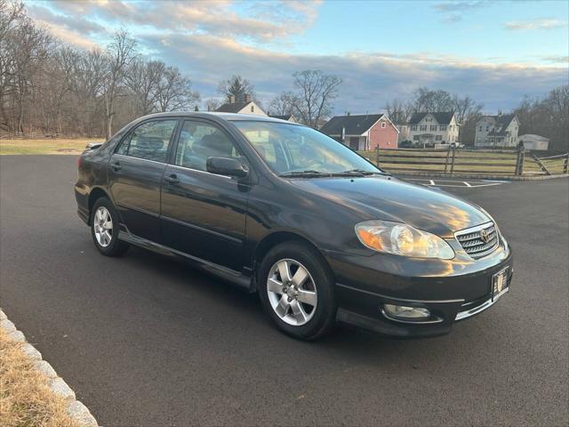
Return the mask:
POLYGON ((510 109, 525 94, 541 95, 569 83, 563 67, 485 64, 433 52, 293 55, 255 49, 231 39, 180 35, 167 37, 167 46, 158 36, 145 36, 144 43, 164 60, 187 70, 204 97, 215 93, 217 83, 231 74, 248 78, 266 103, 291 89, 294 71, 311 68, 336 74, 343 80, 336 113, 381 111, 387 101, 405 99, 421 85, 468 93, 488 110, 510 109))

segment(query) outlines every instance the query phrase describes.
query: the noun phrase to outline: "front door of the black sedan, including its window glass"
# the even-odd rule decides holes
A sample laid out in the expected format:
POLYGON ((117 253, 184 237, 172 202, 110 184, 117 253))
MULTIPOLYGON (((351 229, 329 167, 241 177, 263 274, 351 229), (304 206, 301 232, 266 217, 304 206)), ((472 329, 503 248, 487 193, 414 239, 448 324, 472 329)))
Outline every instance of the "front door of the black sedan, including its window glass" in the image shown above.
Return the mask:
POLYGON ((216 125, 186 120, 162 187, 164 245, 204 261, 241 271, 249 185, 208 173, 208 157, 246 163, 231 137, 216 125))

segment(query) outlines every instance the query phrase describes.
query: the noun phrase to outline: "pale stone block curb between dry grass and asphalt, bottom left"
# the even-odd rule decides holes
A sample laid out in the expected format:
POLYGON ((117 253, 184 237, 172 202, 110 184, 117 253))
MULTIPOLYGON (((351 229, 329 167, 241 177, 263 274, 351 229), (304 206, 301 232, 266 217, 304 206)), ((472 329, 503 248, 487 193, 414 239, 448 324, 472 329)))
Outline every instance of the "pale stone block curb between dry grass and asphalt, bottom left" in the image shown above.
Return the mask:
POLYGON ((4 329, 4 332, 8 334, 13 341, 24 342, 22 350, 28 355, 29 359, 34 361, 36 369, 50 379, 50 387, 52 391, 65 399, 68 407, 68 415, 76 421, 82 427, 99 427, 97 420, 92 416, 89 409, 84 406, 79 400, 76 400, 75 391, 71 390, 68 383, 63 381, 60 376, 57 375, 55 369, 47 361, 42 359, 42 353, 40 353, 36 348, 26 342, 26 337, 21 333, 16 326, 6 317, 3 310, 0 309, 0 327, 4 329))

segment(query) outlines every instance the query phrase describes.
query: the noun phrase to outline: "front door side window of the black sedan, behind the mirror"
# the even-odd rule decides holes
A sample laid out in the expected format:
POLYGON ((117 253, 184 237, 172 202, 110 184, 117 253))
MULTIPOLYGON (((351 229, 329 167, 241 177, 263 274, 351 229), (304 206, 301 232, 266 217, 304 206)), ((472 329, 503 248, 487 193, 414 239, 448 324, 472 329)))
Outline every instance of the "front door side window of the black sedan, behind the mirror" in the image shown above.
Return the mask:
POLYGON ((241 158, 235 144, 218 127, 187 120, 180 132, 175 164, 206 171, 208 157, 241 158))

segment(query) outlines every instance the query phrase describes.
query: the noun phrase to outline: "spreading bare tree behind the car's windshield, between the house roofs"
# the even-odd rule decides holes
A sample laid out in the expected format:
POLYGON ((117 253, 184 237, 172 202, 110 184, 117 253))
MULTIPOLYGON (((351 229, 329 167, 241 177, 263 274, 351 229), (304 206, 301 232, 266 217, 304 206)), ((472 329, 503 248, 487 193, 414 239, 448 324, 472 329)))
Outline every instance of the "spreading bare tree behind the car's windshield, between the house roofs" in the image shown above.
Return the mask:
POLYGON ((302 123, 317 128, 320 119, 332 112, 332 101, 338 96, 341 78, 319 69, 306 69, 295 72, 293 79, 296 88, 293 112, 302 123))

